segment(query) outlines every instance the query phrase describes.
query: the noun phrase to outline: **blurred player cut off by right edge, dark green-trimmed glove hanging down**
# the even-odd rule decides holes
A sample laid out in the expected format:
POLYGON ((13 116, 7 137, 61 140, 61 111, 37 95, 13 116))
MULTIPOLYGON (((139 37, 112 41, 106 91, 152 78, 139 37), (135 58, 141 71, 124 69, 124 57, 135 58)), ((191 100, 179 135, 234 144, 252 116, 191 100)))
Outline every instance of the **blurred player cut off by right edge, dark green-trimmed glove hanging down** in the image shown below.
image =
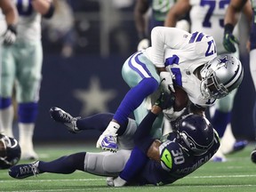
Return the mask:
MULTIPOLYGON (((239 13, 242 12, 245 6, 250 4, 249 0, 230 0, 228 5, 228 11, 225 16, 225 33, 223 38, 223 44, 228 52, 236 52, 235 45, 238 44, 236 35, 233 35, 233 29, 236 26, 237 18, 239 18, 239 13)), ((252 82, 256 90, 256 2, 252 0, 252 17, 247 18, 251 24, 251 33, 250 33, 250 71, 252 76, 252 82), (252 22, 251 22, 252 21, 252 22)), ((256 100, 255 100, 256 101, 256 100)), ((256 105, 254 105, 252 120, 254 129, 256 127, 256 105)), ((256 163, 256 148, 252 151, 251 154, 252 162, 256 163)))

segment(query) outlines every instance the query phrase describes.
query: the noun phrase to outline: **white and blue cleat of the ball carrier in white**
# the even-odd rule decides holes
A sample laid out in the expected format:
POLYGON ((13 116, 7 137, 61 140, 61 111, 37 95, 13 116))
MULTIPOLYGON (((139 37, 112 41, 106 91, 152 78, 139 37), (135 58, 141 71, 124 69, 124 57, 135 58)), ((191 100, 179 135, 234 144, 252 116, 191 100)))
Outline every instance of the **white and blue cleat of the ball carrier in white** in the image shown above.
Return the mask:
POLYGON ((100 135, 97 141, 97 148, 102 148, 103 150, 108 150, 111 152, 116 152, 118 146, 116 144, 116 134, 115 135, 100 135))

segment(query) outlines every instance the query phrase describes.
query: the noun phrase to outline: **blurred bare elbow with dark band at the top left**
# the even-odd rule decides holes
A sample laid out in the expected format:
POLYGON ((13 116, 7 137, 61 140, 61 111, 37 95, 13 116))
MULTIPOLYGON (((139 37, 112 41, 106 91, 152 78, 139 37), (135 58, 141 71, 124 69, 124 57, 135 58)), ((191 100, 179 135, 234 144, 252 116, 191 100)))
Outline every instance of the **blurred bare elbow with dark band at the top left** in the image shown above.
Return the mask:
POLYGON ((32 0, 32 5, 36 12, 41 13, 44 18, 52 18, 54 13, 54 5, 52 0, 32 0))

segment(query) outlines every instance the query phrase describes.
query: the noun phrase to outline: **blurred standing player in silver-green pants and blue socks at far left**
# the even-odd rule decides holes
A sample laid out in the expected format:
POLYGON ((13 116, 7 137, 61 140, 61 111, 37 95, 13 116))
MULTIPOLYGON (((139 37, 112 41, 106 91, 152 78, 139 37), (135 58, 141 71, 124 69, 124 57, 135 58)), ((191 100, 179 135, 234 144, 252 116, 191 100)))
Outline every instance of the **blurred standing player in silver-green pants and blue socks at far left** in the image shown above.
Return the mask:
POLYGON ((16 42, 3 47, 0 122, 6 134, 12 137, 12 88, 15 84, 21 158, 36 159, 32 137, 42 78, 41 18, 51 18, 54 8, 51 0, 20 0, 13 3, 19 12, 19 21, 16 42))

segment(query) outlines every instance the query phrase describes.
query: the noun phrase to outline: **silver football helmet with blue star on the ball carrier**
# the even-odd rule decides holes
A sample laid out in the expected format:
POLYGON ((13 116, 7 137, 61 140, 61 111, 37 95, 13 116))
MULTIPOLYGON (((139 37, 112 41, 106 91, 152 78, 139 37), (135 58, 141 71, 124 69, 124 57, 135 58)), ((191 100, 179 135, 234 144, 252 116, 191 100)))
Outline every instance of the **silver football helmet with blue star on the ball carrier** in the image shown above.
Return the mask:
POLYGON ((200 71, 200 90, 204 99, 220 99, 236 89, 244 77, 244 68, 236 57, 219 55, 200 71))

